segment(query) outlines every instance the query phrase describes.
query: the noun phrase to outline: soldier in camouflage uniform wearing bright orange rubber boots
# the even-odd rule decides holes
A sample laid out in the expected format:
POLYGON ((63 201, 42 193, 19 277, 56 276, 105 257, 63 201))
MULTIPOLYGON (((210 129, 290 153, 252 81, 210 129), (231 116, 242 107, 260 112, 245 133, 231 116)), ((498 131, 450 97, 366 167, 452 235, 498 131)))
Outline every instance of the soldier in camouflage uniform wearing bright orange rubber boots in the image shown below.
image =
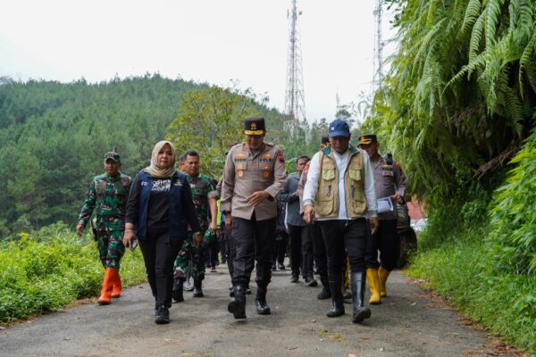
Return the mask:
POLYGON ((105 267, 103 288, 98 303, 105 305, 111 302, 112 297, 121 295, 121 277, 119 276, 119 262, 125 253, 122 236, 125 228, 125 212, 131 179, 123 175, 121 158, 115 152, 105 154, 105 174, 96 176, 89 187, 88 198, 82 207, 78 224, 77 235, 91 219, 91 213, 96 209, 96 220, 92 223, 96 246, 100 260, 105 267))

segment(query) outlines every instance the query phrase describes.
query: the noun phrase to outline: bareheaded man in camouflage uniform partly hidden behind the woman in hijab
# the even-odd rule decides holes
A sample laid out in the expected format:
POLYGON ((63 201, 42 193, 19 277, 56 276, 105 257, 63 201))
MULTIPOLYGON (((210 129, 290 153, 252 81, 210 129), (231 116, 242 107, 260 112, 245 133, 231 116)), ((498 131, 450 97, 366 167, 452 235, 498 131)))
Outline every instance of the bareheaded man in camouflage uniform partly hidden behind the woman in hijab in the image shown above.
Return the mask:
POLYGON ((188 273, 188 265, 192 261, 191 275, 194 278, 194 297, 203 297, 202 281, 205 278, 205 262, 203 253, 206 246, 215 239, 215 231, 218 228, 217 220, 217 192, 213 179, 206 175, 199 174, 199 154, 190 151, 184 155, 182 169, 187 175, 188 183, 192 190, 192 198, 196 206, 197 220, 201 226, 202 242, 193 241, 188 235, 188 239, 180 248, 179 255, 175 259, 175 274, 173 284, 173 299, 177 302, 184 301, 182 285, 188 273), (208 212, 211 217, 209 220, 208 212))

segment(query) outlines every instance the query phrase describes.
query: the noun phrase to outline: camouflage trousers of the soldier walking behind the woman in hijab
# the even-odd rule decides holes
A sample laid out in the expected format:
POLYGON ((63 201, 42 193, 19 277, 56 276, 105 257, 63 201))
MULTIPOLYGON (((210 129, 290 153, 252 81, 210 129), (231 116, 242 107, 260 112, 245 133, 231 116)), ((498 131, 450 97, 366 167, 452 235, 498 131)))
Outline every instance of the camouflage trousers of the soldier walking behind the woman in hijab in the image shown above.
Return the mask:
POLYGON ((175 259, 173 278, 186 279, 189 270, 189 262, 191 260, 190 271, 194 280, 205 279, 205 259, 203 253, 206 246, 212 244, 213 239, 205 238, 205 232, 201 232, 203 239, 200 245, 194 245, 192 235, 188 233, 188 237, 184 240, 184 243, 180 247, 180 252, 175 259))

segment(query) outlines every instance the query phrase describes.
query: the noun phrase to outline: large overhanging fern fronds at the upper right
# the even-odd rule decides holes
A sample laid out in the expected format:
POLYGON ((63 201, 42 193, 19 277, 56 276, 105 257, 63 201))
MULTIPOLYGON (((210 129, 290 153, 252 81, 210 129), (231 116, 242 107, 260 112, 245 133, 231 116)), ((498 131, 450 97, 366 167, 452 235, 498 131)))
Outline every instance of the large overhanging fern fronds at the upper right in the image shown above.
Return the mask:
POLYGON ((415 193, 448 201, 507 162, 536 115, 536 3, 395 0, 399 51, 365 128, 398 155, 415 193))

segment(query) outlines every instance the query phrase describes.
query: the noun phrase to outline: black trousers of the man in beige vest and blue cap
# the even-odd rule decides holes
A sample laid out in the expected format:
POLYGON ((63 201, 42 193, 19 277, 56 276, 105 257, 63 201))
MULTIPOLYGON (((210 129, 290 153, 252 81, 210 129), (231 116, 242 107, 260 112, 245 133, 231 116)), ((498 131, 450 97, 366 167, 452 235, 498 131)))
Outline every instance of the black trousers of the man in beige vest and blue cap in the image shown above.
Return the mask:
POLYGON ((341 282, 343 265, 346 265, 345 248, 350 270, 364 271, 368 229, 366 220, 320 220, 317 223, 322 229, 326 246, 330 281, 341 282))

